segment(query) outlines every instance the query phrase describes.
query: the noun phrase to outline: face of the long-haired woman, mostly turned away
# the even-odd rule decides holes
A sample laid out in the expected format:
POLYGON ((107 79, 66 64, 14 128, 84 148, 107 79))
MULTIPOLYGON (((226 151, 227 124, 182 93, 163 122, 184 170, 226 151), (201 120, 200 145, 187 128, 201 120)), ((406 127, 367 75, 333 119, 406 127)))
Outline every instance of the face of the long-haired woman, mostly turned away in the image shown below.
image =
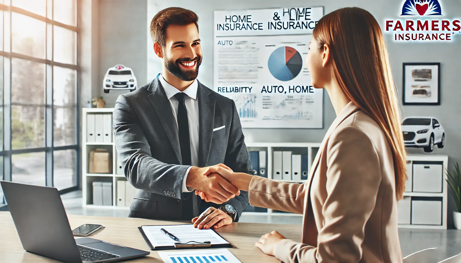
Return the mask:
POLYGON ((325 88, 325 83, 331 81, 331 63, 328 61, 328 52, 324 46, 313 37, 309 42, 309 52, 306 56, 306 66, 312 78, 314 88, 325 88), (326 59, 326 60, 325 60, 326 59))

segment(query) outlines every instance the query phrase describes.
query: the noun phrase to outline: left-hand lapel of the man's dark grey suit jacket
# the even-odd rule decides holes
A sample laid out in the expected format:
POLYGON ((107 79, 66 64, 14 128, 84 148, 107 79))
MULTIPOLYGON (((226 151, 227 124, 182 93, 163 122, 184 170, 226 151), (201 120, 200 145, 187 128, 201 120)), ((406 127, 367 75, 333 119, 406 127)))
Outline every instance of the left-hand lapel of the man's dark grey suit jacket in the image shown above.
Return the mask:
POLYGON ((181 158, 181 147, 179 146, 177 123, 173 116, 173 111, 171 111, 170 102, 168 101, 158 78, 154 78, 154 80, 150 83, 148 91, 151 91, 152 93, 147 96, 147 99, 160 119, 160 123, 165 130, 165 134, 168 137, 171 146, 173 147, 177 160, 180 164, 182 164, 183 160, 181 158))

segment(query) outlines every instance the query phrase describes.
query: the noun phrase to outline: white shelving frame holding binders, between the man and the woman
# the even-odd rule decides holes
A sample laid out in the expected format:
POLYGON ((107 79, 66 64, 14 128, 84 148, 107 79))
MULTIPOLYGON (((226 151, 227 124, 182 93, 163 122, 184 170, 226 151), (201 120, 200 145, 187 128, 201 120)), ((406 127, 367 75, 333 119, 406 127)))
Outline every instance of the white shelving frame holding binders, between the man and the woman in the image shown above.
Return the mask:
MULTIPOLYGON (((315 155, 319 151, 320 143, 318 142, 251 142, 245 143, 248 152, 250 151, 266 151, 267 155, 267 178, 272 179, 272 156, 274 151, 292 151, 293 154, 307 154, 307 170, 310 172, 315 155)), ((306 180, 293 181, 293 180, 277 180, 284 182, 297 182, 303 183, 306 180)), ((302 214, 293 214, 285 212, 275 212, 272 209, 267 209, 267 212, 243 212, 243 215, 267 215, 267 216, 302 216, 302 214)))

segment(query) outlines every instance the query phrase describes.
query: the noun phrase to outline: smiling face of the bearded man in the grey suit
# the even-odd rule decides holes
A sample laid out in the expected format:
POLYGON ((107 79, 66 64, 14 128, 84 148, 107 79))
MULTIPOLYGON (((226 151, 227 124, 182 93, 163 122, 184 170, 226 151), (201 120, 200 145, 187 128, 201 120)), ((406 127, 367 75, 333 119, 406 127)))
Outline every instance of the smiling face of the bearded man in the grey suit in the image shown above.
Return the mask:
POLYGON ((166 28, 163 61, 171 74, 183 81, 193 81, 199 74, 201 59, 199 32, 195 24, 166 28))

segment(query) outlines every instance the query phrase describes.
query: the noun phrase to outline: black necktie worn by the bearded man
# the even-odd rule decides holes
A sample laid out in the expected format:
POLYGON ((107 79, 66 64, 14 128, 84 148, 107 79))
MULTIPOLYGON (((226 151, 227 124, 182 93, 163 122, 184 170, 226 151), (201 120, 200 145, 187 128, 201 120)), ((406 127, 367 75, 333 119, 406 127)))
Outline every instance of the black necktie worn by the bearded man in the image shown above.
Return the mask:
POLYGON ((187 95, 177 93, 174 95, 177 100, 177 129, 179 134, 179 146, 181 147, 181 158, 183 165, 192 165, 190 160, 190 139, 189 139, 189 121, 187 120, 187 109, 184 101, 187 95))

